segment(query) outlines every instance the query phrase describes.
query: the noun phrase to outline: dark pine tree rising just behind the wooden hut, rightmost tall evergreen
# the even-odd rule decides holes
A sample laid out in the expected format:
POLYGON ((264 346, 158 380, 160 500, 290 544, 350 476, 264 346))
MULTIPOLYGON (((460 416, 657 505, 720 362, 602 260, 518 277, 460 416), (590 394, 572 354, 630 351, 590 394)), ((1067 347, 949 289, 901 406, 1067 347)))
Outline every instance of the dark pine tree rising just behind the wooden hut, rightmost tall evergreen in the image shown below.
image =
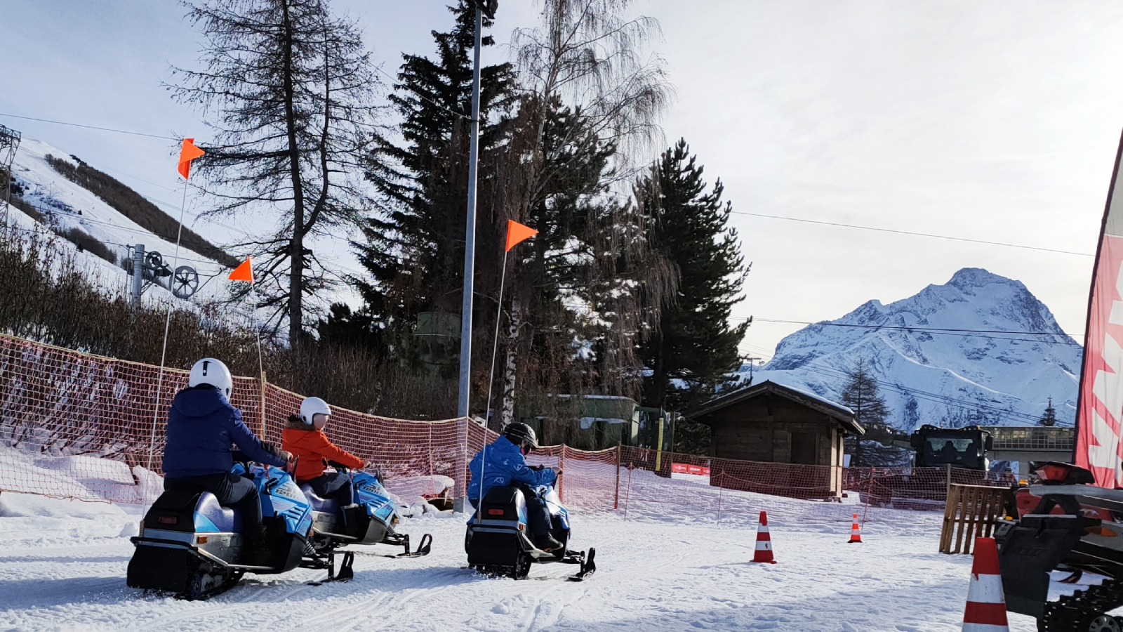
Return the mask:
POLYGON ((706 192, 702 165, 679 139, 641 178, 636 196, 652 218, 651 247, 678 269, 678 291, 663 306, 659 329, 642 345, 647 406, 683 409, 730 381, 748 323, 730 326, 747 269, 721 180, 706 192), (675 382, 684 386, 676 387, 675 382))

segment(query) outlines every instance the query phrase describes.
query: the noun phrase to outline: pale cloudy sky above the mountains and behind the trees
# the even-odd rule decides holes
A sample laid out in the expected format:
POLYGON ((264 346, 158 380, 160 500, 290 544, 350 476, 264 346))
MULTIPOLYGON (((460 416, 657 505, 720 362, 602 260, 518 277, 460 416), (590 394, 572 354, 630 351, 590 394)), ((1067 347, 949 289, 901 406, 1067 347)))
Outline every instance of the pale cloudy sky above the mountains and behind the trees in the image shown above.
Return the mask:
MULTIPOLYGON (((440 0, 334 4, 391 74, 450 24, 440 0)), ((2 0, 0 11, 0 114, 206 138, 198 112, 161 88, 200 46, 176 2, 2 0)), ((633 12, 663 25, 654 51, 678 94, 667 141, 687 139, 736 211, 1094 252, 1123 129, 1123 3, 638 0, 633 12)), ((529 0, 503 0, 494 35, 506 42, 535 19, 529 0)), ((179 199, 168 141, 0 123, 179 199)), ((1090 256, 755 215, 733 224, 754 262, 737 309, 757 318, 746 353, 768 358, 801 327, 764 319, 837 318, 965 267, 1023 281, 1083 334, 1090 256)))

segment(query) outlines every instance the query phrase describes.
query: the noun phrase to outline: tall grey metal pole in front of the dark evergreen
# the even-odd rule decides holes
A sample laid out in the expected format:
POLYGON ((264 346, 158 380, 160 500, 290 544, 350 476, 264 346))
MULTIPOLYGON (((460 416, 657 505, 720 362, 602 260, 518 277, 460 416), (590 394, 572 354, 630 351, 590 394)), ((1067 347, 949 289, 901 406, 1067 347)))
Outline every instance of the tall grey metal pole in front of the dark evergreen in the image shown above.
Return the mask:
POLYGON ((483 16, 477 3, 476 47, 472 70, 472 138, 468 144, 468 219, 464 235, 464 299, 460 304, 460 392, 456 404, 459 417, 468 416, 468 396, 472 389, 472 292, 475 285, 473 272, 476 256, 476 163, 480 152, 480 44, 483 16))

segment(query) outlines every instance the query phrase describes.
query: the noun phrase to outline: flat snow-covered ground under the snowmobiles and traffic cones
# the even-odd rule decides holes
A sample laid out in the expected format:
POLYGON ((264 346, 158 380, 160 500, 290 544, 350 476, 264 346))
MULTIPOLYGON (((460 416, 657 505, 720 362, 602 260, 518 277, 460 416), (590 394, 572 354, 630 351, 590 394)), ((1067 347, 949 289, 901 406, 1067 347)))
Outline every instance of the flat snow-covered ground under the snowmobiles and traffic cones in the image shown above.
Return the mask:
MULTIPOLYGON (((737 494, 737 493, 728 493, 737 494)), ((755 495, 743 496, 751 503, 755 495)), ((575 545, 597 548, 597 572, 536 566, 531 579, 463 568, 463 515, 407 520, 433 534, 419 559, 359 556, 355 580, 309 586, 323 571, 247 576, 207 602, 125 585, 139 507, 0 495, 0 630, 769 630, 958 631, 970 558, 937 552, 940 516, 880 509, 865 543, 849 524, 807 521, 802 500, 767 498, 777 565, 754 565, 755 520, 667 515, 633 502, 573 516, 575 545)), ((358 548, 385 549, 383 547, 358 548)), ((1031 632, 1011 615, 1011 630, 1031 632)))

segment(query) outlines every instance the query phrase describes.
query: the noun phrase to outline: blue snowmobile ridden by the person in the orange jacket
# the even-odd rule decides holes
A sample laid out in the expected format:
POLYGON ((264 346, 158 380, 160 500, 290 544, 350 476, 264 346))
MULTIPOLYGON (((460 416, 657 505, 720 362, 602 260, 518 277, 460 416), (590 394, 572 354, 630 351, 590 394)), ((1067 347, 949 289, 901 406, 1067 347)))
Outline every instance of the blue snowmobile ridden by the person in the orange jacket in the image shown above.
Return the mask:
POLYGON ((394 531, 400 518, 378 475, 350 471, 336 462, 329 464, 350 476, 351 502, 344 504, 334 498, 321 498, 311 485, 300 486, 312 505, 312 531, 309 533, 302 567, 327 568, 329 581, 346 581, 355 577, 351 568, 355 553, 344 551, 339 569, 336 570, 335 553, 340 547, 391 544, 404 547, 405 551, 390 557, 418 558, 429 554, 432 535, 422 535, 417 551, 410 552, 410 536, 394 531))

